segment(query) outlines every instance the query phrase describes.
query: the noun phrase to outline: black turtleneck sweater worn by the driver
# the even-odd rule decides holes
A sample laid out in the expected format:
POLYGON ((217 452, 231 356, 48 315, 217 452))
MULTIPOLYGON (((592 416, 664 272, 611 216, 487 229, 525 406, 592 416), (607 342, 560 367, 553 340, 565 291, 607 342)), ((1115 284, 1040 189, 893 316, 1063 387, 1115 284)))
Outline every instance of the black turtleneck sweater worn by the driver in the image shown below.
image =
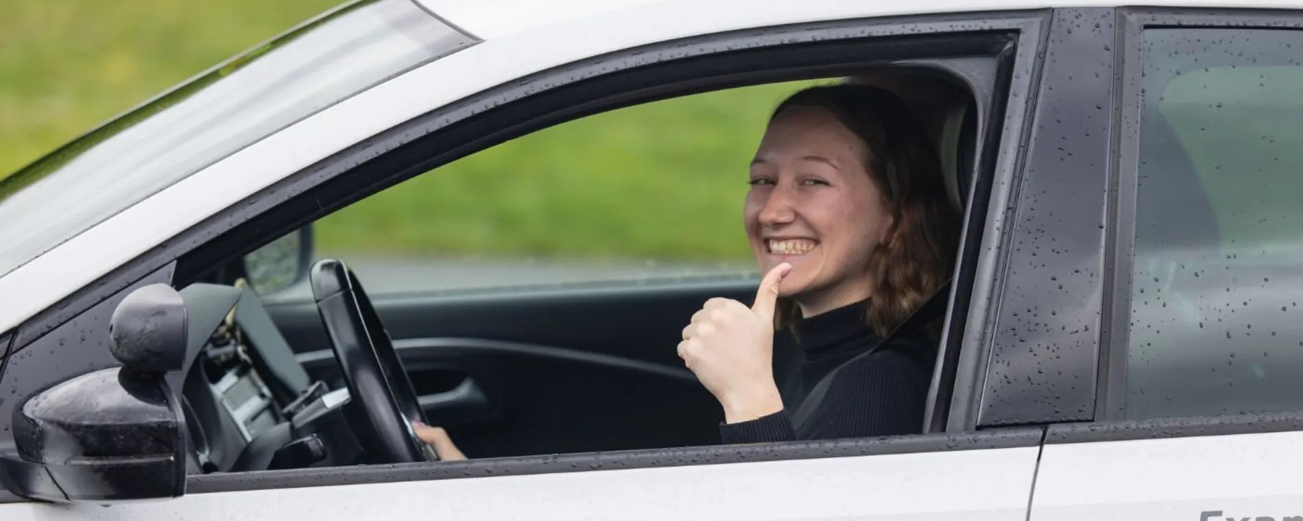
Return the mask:
POLYGON ((865 324, 864 306, 797 319, 775 332, 774 379, 784 408, 721 425, 723 443, 921 432, 936 348, 919 331, 903 331, 878 348, 882 339, 865 324))

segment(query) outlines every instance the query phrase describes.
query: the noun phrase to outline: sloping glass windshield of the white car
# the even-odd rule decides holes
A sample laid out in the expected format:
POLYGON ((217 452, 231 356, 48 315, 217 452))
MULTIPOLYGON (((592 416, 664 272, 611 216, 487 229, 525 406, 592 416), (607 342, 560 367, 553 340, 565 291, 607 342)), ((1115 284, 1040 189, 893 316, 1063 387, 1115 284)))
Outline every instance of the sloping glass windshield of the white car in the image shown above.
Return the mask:
POLYGON ((412 0, 360 0, 195 76, 0 177, 0 275, 250 143, 469 42, 412 0))

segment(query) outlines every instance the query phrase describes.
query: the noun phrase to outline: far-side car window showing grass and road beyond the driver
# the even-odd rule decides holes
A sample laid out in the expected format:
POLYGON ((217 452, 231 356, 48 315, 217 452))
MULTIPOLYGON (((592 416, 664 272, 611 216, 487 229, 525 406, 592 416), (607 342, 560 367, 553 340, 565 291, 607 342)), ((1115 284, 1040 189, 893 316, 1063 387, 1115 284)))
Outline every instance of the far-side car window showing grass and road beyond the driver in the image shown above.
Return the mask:
POLYGON ((442 165, 313 224, 375 294, 756 279, 741 229, 769 111, 809 82, 564 122, 442 165))

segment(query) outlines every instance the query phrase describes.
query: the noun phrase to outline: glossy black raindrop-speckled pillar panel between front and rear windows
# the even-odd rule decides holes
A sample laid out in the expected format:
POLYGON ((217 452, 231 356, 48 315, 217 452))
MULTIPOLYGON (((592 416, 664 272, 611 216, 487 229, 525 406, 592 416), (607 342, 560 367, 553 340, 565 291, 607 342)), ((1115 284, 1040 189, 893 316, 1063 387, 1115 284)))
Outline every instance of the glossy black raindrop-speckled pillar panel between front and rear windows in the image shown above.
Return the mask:
POLYGON ((1035 132, 1009 142, 1023 152, 998 231, 993 302, 984 328, 967 332, 988 357, 969 409, 977 429, 1093 418, 1114 16, 1114 8, 1054 9, 1027 116, 1035 132))

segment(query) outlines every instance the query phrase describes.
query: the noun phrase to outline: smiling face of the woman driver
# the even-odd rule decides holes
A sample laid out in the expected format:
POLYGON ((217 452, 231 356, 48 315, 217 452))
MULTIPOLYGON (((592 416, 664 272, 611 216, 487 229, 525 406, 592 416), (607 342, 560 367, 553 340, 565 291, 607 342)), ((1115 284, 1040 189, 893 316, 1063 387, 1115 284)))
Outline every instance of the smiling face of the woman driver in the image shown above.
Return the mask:
POLYGON ((868 259, 890 225, 868 146, 831 112, 790 107, 751 163, 743 219, 761 272, 787 262, 779 294, 805 317, 869 297, 868 259))

